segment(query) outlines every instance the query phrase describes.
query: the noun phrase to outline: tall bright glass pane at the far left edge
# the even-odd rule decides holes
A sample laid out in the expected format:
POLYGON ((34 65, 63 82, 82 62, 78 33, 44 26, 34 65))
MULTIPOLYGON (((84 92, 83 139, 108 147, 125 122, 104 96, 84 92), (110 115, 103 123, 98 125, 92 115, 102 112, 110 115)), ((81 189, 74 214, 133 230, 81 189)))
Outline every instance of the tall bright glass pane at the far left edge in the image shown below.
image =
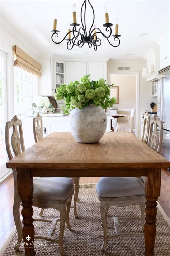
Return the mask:
POLYGON ((7 121, 6 53, 0 50, 0 181, 10 172, 6 169, 5 123, 7 121))

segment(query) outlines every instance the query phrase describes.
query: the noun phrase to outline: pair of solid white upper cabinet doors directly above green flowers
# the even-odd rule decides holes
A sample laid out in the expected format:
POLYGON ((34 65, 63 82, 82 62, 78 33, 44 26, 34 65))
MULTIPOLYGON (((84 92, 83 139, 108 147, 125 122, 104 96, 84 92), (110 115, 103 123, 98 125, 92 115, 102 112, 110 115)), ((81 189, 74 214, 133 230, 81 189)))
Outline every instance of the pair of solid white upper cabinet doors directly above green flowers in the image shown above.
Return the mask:
POLYGON ((66 84, 70 81, 80 81, 84 75, 90 74, 90 80, 104 78, 107 80, 107 61, 68 61, 66 62, 66 84))

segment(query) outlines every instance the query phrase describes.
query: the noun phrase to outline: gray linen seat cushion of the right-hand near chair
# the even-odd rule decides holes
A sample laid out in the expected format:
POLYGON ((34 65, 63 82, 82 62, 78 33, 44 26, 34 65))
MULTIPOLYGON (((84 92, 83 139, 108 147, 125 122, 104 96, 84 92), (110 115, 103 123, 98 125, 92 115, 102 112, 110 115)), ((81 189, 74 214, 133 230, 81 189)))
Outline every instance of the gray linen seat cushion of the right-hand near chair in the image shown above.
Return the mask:
POLYGON ((141 179, 134 177, 101 177, 96 190, 99 199, 145 195, 141 179))

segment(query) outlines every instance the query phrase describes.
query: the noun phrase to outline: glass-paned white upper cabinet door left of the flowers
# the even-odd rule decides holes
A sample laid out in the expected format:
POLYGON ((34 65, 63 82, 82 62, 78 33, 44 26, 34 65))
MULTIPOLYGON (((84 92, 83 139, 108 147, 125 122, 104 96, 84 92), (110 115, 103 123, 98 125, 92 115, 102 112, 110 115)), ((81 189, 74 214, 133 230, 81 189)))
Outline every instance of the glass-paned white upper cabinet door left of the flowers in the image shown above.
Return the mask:
POLYGON ((66 82, 66 63, 63 61, 54 61, 54 86, 57 87, 66 82))

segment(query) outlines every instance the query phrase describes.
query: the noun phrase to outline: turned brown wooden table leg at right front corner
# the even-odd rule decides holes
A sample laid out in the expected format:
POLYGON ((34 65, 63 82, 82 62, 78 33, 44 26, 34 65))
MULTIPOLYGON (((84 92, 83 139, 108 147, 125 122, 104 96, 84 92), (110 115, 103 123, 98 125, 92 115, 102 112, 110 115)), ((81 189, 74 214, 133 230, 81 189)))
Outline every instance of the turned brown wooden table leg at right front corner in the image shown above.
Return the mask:
POLYGON ((156 213, 157 198, 160 196, 161 169, 148 169, 148 177, 145 182, 146 196, 146 223, 145 223, 145 255, 154 255, 156 237, 156 213))

